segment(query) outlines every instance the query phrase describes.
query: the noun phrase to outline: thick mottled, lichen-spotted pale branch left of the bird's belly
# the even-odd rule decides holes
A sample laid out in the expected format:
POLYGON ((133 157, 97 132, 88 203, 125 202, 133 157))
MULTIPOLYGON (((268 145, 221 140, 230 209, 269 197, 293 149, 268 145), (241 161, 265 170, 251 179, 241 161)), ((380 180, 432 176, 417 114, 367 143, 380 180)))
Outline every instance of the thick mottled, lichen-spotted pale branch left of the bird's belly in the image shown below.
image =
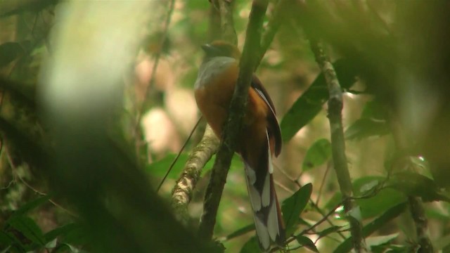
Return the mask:
POLYGON ((192 150, 180 178, 172 190, 172 208, 179 220, 187 221, 188 204, 205 164, 219 148, 219 139, 208 125, 202 141, 192 150))

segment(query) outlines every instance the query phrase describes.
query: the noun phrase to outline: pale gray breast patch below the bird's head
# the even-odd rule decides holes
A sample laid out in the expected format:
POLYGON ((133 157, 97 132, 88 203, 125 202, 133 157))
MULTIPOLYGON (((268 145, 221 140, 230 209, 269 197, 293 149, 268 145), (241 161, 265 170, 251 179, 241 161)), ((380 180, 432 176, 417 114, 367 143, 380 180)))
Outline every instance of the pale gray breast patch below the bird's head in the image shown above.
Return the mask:
POLYGON ((214 77, 219 76, 226 68, 235 63, 236 60, 231 57, 214 57, 205 61, 198 70, 197 81, 194 89, 199 89, 210 83, 214 77))

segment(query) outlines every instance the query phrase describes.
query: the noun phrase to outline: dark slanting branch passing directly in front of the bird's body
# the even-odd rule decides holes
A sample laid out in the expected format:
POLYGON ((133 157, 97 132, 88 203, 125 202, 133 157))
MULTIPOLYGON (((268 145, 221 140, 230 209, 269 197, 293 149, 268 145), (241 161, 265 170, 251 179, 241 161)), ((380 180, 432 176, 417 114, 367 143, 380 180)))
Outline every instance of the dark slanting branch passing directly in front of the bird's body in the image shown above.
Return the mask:
MULTIPOLYGON (((253 70, 257 64, 262 22, 266 13, 268 0, 255 0, 250 11, 250 20, 246 31, 245 44, 239 65, 238 82, 231 98, 229 115, 222 134, 223 139, 214 161, 210 183, 207 186, 203 214, 200 220, 199 235, 204 240, 211 240, 217 209, 226 181, 226 176, 233 157, 238 133, 242 129, 245 117, 245 106, 248 100, 248 89, 253 70)), ((223 14, 223 13, 221 13, 223 14)))

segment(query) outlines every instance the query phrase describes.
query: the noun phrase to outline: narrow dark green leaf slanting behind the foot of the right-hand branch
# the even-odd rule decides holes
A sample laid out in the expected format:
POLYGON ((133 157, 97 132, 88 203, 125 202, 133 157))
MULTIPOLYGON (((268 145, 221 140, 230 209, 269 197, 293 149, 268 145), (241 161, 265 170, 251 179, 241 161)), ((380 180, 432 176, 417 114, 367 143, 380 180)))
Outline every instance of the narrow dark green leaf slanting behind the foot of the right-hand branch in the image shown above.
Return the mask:
MULTIPOLYGON (((383 215, 379 216, 377 219, 374 219, 371 223, 368 223, 363 227, 363 236, 364 238, 371 235, 373 232, 378 231, 381 227, 385 226, 386 223, 391 221, 394 218, 397 218, 400 214, 402 214, 407 207, 407 203, 401 203, 387 210, 383 215)), ((342 242, 335 250, 334 253, 346 253, 352 250, 352 238, 347 238, 344 242, 342 242)))

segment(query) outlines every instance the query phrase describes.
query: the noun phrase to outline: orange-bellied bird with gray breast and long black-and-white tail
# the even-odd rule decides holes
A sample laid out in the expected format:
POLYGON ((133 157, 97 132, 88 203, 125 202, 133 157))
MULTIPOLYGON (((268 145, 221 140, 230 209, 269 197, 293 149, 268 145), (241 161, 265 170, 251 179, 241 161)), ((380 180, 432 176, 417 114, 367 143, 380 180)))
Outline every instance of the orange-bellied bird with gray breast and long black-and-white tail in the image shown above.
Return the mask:
MULTIPOLYGON (((206 56, 195 82, 195 100, 220 138, 238 80, 240 51, 224 41, 214 41, 202 48, 206 56)), ((236 147, 244 162, 259 245, 264 251, 270 249, 271 242, 282 246, 284 223, 272 176, 272 155, 278 156, 281 152, 281 131, 274 103, 255 75, 236 147)))

